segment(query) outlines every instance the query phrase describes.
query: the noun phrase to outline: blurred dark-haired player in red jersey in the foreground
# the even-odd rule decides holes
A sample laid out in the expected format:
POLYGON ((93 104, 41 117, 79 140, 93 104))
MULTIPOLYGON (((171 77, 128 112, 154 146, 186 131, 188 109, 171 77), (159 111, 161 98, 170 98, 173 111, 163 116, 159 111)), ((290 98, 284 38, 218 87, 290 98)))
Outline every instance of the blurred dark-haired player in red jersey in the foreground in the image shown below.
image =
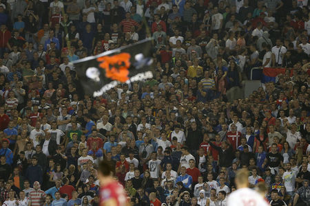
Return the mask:
POLYGON ((123 186, 113 177, 112 168, 106 161, 99 164, 100 206, 129 206, 123 186))

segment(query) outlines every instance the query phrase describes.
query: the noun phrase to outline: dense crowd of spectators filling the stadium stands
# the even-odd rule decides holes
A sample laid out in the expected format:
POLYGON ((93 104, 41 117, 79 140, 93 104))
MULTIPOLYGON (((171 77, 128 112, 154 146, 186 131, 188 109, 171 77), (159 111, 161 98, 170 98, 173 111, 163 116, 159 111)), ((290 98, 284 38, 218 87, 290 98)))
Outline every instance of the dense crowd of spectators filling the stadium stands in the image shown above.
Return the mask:
POLYGON ((307 0, 1 0, 0 201, 99 205, 106 159, 132 205, 226 205, 234 176, 310 202, 307 0), (73 60, 154 38, 154 78, 83 93, 73 60), (227 102, 254 67, 285 73, 227 102))

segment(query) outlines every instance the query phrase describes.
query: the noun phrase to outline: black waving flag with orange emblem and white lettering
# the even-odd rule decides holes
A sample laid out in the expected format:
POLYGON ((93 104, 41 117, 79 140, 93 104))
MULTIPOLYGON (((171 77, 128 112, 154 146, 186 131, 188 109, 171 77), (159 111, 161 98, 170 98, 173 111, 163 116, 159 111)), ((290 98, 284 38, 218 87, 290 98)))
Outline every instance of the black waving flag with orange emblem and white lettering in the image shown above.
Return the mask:
POLYGON ((119 83, 153 78, 152 39, 147 38, 76 60, 76 74, 86 94, 98 97, 119 83))

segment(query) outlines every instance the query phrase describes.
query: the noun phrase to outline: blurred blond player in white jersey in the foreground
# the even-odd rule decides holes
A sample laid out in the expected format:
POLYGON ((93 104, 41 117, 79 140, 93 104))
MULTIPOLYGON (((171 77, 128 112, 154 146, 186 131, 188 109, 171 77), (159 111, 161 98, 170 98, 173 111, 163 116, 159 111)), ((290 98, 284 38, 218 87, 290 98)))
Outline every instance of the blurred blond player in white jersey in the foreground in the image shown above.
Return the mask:
POLYGON ((249 171, 245 168, 236 174, 235 192, 228 196, 227 206, 267 206, 267 201, 256 191, 249 188, 249 171))

